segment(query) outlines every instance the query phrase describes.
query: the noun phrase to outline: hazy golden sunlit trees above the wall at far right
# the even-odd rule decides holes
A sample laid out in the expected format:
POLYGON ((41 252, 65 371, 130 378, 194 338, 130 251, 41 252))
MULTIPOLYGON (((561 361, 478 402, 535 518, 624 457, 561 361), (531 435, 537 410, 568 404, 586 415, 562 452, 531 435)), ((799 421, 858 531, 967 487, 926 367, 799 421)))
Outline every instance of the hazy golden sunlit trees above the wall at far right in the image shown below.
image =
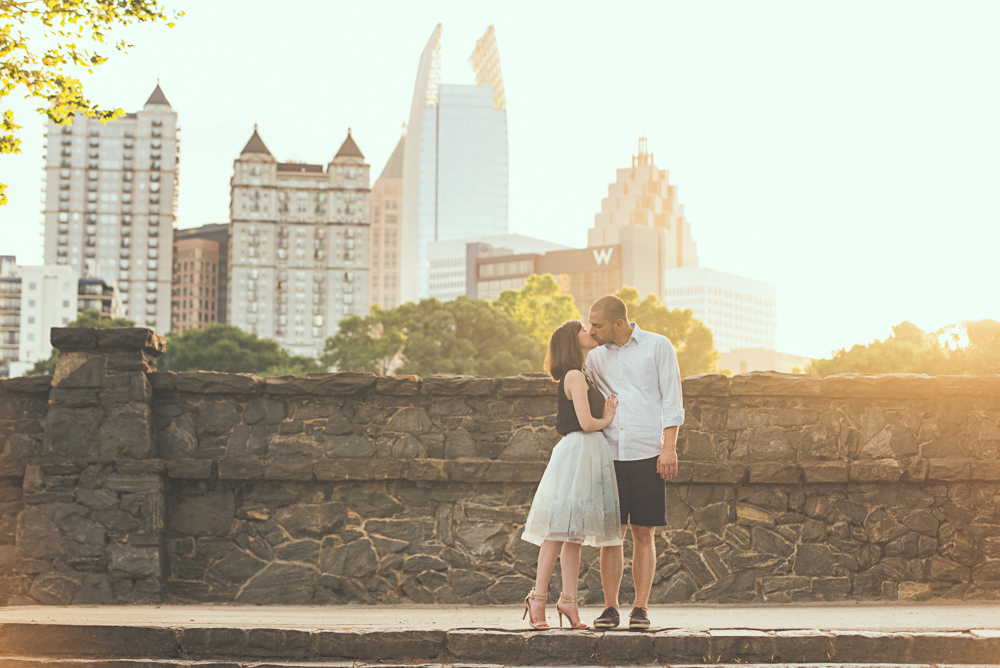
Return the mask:
POLYGON ((1000 323, 977 320, 962 327, 925 332, 912 322, 892 328, 883 341, 840 349, 807 370, 816 376, 835 373, 926 373, 962 375, 1000 373, 1000 323), (963 341, 964 331, 968 341, 963 341), (965 345, 962 345, 965 344, 965 345))

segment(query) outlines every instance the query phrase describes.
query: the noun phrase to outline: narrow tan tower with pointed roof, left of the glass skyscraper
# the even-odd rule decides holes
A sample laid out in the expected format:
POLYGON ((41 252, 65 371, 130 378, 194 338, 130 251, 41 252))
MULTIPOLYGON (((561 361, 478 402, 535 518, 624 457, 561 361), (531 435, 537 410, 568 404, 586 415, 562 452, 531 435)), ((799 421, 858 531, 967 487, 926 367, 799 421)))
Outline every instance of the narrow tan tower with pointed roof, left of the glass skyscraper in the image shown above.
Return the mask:
POLYGON ((406 135, 399 138, 389 162, 372 186, 371 306, 399 306, 399 256, 403 213, 403 156, 406 135))

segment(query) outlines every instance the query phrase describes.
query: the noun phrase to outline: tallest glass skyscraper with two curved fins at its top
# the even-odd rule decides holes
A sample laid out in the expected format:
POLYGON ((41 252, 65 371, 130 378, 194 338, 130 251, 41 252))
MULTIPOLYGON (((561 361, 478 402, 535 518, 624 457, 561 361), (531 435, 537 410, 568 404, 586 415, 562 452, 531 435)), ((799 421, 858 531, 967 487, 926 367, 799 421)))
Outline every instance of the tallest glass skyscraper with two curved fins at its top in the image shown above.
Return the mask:
POLYGON ((441 83, 441 25, 420 56, 403 160, 400 298, 430 294, 428 245, 507 233, 507 106, 493 27, 476 83, 441 83))

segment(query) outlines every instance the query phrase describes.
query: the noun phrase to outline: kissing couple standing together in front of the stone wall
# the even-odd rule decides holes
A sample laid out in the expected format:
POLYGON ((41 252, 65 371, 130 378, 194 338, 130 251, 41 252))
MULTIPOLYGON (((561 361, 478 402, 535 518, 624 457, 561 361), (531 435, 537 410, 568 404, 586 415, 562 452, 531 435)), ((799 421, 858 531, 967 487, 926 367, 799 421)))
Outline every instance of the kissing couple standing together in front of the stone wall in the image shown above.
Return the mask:
POLYGON ((629 628, 647 629, 656 527, 667 523, 664 481, 677 475, 677 431, 684 422, 674 347, 629 322, 625 302, 608 295, 590 309, 590 329, 569 320, 552 333, 545 363, 559 381, 556 430, 563 438, 552 449, 521 535, 540 546, 524 616, 532 628, 549 628, 545 599, 558 557, 559 625, 565 615, 573 628, 587 628, 580 622, 577 584, 580 550, 592 545, 601 548, 605 606, 594 627, 618 626, 622 544, 631 526, 635 601, 629 628))

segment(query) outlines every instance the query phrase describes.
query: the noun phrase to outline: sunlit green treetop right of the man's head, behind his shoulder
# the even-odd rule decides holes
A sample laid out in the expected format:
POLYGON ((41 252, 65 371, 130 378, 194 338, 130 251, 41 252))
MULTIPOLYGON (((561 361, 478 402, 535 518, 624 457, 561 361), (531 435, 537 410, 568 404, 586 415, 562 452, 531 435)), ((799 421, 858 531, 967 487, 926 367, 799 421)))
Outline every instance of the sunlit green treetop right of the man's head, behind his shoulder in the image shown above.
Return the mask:
POLYGON ((712 332, 689 309, 671 311, 652 293, 640 302, 639 291, 628 286, 615 294, 625 302, 632 322, 647 332, 670 339, 677 351, 682 377, 718 371, 719 353, 712 332))

